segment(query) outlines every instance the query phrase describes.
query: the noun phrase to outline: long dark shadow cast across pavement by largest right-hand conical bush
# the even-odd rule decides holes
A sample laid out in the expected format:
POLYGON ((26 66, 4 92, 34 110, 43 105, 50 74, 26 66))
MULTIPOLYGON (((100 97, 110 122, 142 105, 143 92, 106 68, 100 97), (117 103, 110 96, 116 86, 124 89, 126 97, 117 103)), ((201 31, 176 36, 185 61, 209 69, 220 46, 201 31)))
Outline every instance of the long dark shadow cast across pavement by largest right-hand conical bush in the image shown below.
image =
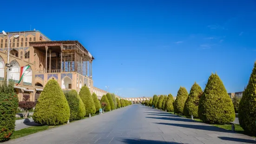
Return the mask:
MULTIPOLYGON (((218 131, 218 132, 236 133, 236 132, 225 130, 225 129, 222 129, 222 128, 218 128, 218 127, 212 126, 212 125, 171 124, 171 123, 155 123, 155 124, 179 126, 179 127, 196 129, 196 130, 204 130, 204 131, 218 131)), ((203 124, 203 123, 201 123, 201 124, 203 124)))

